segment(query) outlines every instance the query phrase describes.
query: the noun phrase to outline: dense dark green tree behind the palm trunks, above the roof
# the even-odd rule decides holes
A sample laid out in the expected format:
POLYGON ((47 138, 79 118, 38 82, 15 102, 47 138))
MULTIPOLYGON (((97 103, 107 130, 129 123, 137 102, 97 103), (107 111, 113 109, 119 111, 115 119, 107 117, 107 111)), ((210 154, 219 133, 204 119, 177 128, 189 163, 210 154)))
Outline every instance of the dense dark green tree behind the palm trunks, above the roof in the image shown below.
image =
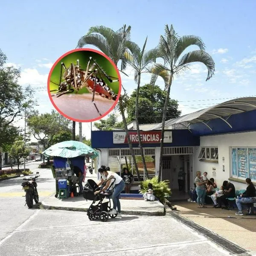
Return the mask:
MULTIPOLYGON (((167 92, 159 86, 152 87, 150 84, 145 84, 140 87, 139 93, 138 119, 140 124, 160 123, 163 118, 163 106, 167 92)), ((130 96, 127 107, 128 122, 135 120, 135 102, 137 97, 137 89, 130 96)), ((181 114, 178 110, 178 102, 175 99, 170 99, 167 104, 166 117, 169 119, 177 118, 181 114)))

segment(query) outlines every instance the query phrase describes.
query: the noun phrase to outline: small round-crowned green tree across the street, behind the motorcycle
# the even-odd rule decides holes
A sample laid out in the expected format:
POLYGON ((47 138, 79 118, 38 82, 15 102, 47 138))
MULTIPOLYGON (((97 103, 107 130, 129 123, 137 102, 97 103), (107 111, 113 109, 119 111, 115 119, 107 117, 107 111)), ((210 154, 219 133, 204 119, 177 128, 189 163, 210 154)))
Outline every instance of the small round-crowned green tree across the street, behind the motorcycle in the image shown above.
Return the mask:
POLYGON ((17 140, 15 140, 11 150, 9 151, 10 157, 12 157, 17 161, 18 170, 20 166, 20 158, 24 158, 25 160, 26 157, 29 156, 29 153, 30 153, 30 149, 25 146, 23 137, 19 136, 17 140))

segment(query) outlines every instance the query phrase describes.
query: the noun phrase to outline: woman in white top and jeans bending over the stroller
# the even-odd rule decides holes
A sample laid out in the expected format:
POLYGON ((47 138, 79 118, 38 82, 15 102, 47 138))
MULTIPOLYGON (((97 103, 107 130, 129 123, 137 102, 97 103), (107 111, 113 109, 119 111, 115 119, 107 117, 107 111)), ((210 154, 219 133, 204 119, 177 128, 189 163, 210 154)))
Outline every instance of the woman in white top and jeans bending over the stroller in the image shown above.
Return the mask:
MULTIPOLYGON (((125 182, 122 179, 122 177, 120 177, 117 173, 111 172, 109 167, 107 167, 107 168, 108 168, 108 170, 105 168, 99 168, 99 170, 98 170, 98 172, 100 174, 102 174, 102 180, 105 180, 105 177, 107 177, 107 183, 103 187, 102 191, 107 190, 109 188, 109 186, 111 185, 111 183, 113 183, 113 179, 111 179, 111 178, 116 179, 113 183, 113 186, 114 186, 114 191, 112 194, 113 209, 109 212, 109 214, 116 214, 116 208, 117 208, 118 212, 117 212, 116 217, 121 217, 122 215, 121 215, 121 204, 119 201, 119 195, 125 189, 125 182)), ((98 183, 98 186, 103 183, 103 182, 102 183, 101 182, 98 183)), ((94 194, 96 195, 98 193, 99 193, 99 191, 96 191, 94 194)))

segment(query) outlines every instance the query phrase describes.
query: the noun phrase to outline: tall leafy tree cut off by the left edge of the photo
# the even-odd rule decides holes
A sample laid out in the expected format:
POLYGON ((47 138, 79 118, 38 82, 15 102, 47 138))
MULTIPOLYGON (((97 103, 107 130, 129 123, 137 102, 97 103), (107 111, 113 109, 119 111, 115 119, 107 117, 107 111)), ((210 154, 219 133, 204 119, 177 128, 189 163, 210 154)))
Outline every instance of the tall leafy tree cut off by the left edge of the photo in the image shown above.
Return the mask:
POLYGON ((23 115, 23 110, 33 104, 33 90, 18 84, 20 70, 13 66, 6 67, 7 57, 0 50, 0 170, 2 152, 12 145, 20 129, 12 123, 23 115))

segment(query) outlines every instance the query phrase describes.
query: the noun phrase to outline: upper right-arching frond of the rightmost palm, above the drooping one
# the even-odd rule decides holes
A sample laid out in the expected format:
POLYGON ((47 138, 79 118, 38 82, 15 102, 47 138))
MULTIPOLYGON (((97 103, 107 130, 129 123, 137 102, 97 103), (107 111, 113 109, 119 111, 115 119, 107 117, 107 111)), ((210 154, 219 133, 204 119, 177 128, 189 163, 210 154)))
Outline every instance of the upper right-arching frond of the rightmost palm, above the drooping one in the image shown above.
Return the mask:
POLYGON ((180 57, 182 52, 189 46, 196 45, 200 50, 205 50, 205 45, 199 36, 184 35, 177 41, 175 47, 175 61, 180 57))

